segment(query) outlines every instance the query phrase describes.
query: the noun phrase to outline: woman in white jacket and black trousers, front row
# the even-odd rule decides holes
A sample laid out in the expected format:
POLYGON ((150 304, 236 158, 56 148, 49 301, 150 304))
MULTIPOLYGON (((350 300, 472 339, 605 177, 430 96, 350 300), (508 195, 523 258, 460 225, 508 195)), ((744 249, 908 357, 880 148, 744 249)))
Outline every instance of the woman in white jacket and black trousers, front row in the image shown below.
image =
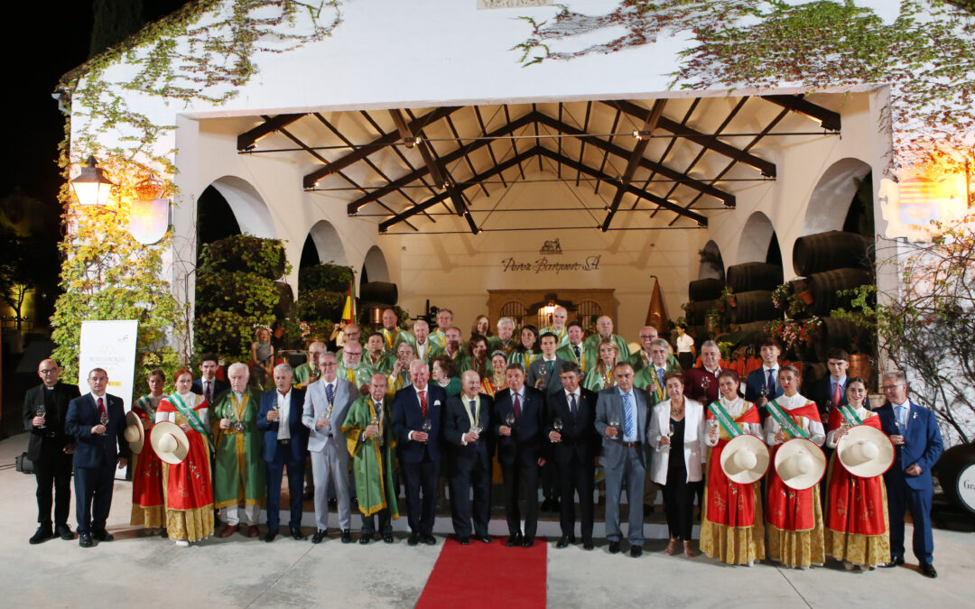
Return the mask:
MULTIPOLYGON (((664 512, 670 529, 670 543, 665 554, 677 552, 683 541, 683 553, 694 555, 690 541, 694 525, 694 496, 701 485, 707 455, 708 434, 704 406, 683 397, 683 373, 664 374, 664 389, 669 400, 653 406, 647 441, 654 450, 650 459, 650 479, 663 486, 664 512)), ((717 442, 717 430, 713 441, 717 442)))

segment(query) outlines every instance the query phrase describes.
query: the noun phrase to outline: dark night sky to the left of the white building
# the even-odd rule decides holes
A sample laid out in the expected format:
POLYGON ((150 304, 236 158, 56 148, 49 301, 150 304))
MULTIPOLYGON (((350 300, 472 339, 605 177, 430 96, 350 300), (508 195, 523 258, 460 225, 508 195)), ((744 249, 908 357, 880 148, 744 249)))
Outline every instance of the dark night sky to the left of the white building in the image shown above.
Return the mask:
MULTIPOLYGON (((142 0, 146 20, 159 19, 186 0, 142 0)), ((25 195, 55 204, 60 182, 56 165, 64 117, 51 96, 59 77, 88 59, 92 1, 43 0, 4 6, 4 162, 0 198, 20 186, 25 195)))

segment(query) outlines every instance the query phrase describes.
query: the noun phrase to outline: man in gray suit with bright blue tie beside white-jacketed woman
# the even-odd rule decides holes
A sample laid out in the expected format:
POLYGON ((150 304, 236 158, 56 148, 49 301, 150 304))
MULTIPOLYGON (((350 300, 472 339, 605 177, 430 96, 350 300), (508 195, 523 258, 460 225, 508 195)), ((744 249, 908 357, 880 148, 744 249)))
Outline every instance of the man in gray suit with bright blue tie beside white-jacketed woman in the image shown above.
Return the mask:
POLYGON ((643 477, 647 413, 643 392, 633 387, 633 366, 619 362, 613 367, 616 386, 600 392, 596 401, 596 431, 603 437, 600 464, 606 481, 606 539, 609 553, 619 552, 619 499, 626 477, 626 497, 630 505, 627 541, 630 555, 643 554, 643 477))

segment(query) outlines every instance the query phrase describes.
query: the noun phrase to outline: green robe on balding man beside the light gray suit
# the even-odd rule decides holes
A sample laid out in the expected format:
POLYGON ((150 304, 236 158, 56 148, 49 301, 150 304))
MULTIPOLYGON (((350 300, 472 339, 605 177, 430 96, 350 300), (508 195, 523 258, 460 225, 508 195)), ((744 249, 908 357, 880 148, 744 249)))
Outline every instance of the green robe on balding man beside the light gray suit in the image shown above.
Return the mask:
POLYGON ((383 400, 383 414, 378 436, 362 440, 362 433, 376 417, 370 396, 363 396, 352 402, 345 415, 342 433, 345 434, 349 454, 352 455, 352 475, 356 478, 359 511, 369 516, 389 508, 389 516, 399 518, 400 509, 396 503, 391 457, 396 447, 396 440, 390 419, 390 407, 385 402, 386 400, 383 400), (380 437, 383 440, 382 446, 377 441, 380 437))

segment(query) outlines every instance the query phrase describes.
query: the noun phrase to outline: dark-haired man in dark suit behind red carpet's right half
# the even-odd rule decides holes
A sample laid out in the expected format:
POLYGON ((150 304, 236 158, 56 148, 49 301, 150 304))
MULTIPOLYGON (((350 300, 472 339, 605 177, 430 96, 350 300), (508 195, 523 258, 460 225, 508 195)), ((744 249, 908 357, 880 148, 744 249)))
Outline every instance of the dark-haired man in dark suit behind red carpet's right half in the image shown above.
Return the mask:
POLYGON ((530 548, 538 528, 538 468, 545 465, 542 435, 545 429, 545 399, 525 385, 525 368, 508 366, 508 388, 494 400, 494 434, 497 460, 504 477, 504 512, 508 516, 508 546, 530 548), (525 536, 518 509, 518 491, 525 487, 525 536))

